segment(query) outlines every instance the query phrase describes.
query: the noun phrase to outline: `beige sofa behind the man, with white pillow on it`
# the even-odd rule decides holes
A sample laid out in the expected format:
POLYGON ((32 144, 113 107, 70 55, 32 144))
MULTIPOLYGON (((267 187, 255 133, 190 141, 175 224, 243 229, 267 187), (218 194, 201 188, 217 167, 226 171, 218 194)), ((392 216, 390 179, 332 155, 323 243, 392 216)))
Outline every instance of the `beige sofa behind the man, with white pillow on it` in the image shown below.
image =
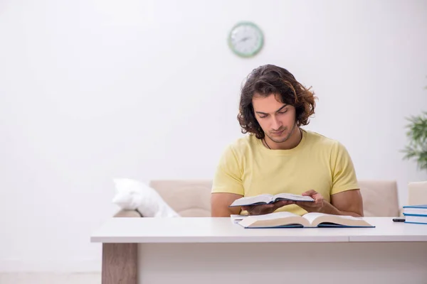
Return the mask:
MULTIPOLYGON (((181 217, 211 217, 211 180, 152 180, 159 192, 181 217)), ((359 180, 365 217, 396 217, 399 209, 396 181, 359 180)), ((137 211, 121 210, 115 217, 142 217, 137 211)))

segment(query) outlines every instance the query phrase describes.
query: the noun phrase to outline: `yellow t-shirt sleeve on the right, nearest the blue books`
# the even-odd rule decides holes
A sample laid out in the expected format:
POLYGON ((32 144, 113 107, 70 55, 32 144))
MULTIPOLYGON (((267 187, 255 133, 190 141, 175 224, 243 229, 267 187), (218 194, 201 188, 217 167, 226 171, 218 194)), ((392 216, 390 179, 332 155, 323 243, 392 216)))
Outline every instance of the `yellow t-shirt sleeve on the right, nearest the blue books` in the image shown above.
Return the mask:
POLYGON ((352 158, 342 143, 337 142, 334 146, 331 161, 332 188, 330 194, 359 189, 352 158))

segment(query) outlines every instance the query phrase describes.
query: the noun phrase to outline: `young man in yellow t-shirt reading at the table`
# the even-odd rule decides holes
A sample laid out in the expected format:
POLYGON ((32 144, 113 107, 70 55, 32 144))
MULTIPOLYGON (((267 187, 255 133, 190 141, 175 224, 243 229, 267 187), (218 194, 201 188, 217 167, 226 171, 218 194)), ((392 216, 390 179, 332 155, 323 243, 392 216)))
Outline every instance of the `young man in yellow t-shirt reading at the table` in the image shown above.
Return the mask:
POLYGON ((241 90, 238 121, 242 133, 224 151, 214 176, 212 217, 230 214, 363 216, 362 196, 352 159, 341 143, 300 126, 315 113, 315 96, 281 67, 253 70, 241 90), (282 201, 228 207, 241 197, 290 192, 315 202, 282 201))

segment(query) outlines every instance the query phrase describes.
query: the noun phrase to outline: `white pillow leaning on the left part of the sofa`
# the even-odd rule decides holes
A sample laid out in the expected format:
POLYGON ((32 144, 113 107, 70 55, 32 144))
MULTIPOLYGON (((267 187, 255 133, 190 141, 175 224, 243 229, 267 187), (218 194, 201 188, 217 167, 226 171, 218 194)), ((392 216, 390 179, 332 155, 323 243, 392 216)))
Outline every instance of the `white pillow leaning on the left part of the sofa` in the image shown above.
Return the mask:
POLYGON ((179 217, 154 188, 129 178, 113 180, 116 195, 112 202, 121 209, 137 210, 143 217, 179 217))

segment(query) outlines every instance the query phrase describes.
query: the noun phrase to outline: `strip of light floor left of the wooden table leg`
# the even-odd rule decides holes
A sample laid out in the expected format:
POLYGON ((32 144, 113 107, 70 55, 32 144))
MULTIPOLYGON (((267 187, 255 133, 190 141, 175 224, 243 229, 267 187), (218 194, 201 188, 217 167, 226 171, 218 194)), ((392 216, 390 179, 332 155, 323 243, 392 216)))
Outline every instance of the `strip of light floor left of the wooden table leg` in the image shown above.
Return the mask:
POLYGON ((101 273, 0 273, 1 284, 101 284, 101 273))

